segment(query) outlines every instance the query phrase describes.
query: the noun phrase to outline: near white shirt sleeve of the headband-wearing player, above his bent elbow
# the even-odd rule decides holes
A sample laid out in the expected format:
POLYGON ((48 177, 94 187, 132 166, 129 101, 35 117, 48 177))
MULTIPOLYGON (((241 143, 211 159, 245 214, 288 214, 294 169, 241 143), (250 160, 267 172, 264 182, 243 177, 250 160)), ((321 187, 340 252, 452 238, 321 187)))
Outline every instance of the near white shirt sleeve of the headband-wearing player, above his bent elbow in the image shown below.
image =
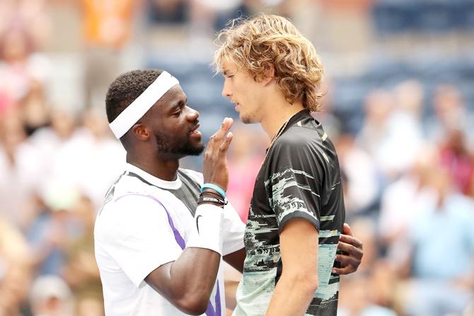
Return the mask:
POLYGON ((122 197, 115 201, 112 216, 115 226, 105 233, 103 248, 137 287, 151 271, 175 261, 183 251, 166 210, 153 197, 122 197))

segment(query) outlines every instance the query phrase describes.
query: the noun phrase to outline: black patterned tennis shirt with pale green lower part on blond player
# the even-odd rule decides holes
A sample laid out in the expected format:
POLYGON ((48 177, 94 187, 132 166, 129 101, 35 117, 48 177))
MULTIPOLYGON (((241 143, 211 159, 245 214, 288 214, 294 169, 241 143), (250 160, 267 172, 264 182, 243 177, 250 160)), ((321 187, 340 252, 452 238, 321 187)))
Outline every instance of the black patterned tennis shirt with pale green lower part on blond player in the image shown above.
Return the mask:
POLYGON ((339 276, 331 270, 345 220, 340 167, 332 142, 307 110, 291 117, 255 181, 233 315, 265 315, 283 269, 279 233, 291 218, 306 219, 319 233, 319 286, 305 315, 336 315, 339 276))

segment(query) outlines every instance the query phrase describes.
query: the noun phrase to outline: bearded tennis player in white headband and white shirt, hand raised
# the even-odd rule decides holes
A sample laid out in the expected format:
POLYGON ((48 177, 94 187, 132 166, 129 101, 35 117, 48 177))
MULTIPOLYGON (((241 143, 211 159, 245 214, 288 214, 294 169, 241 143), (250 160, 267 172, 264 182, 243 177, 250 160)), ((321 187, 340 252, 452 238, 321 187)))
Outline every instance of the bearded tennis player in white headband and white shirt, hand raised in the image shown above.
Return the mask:
POLYGON ((226 315, 221 257, 240 271, 245 258, 245 226, 225 193, 232 119, 209 140, 203 175, 179 168, 204 144, 176 78, 129 71, 105 104, 127 151, 94 232, 105 315, 226 315))

